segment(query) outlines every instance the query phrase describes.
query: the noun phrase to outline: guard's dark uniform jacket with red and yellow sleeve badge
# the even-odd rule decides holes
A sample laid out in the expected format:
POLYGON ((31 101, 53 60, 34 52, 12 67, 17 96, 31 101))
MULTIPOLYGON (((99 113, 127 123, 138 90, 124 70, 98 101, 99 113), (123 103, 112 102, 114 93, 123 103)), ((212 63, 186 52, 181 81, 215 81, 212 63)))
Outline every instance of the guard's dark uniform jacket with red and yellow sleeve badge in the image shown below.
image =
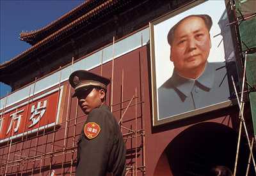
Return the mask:
POLYGON ((76 175, 105 176, 107 172, 116 176, 125 175, 125 143, 120 126, 108 106, 93 109, 84 126, 77 143, 76 175), (84 133, 84 126, 85 131, 90 130, 90 124, 98 125, 98 128, 92 129, 98 134, 91 139, 84 133))

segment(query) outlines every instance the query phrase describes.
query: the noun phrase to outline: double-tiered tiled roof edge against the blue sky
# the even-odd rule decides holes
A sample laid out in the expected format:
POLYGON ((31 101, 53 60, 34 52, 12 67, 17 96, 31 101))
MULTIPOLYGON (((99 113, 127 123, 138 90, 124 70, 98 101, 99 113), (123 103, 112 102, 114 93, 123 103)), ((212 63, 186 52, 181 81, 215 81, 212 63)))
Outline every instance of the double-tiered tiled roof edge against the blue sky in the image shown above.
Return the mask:
POLYGON ((1 70, 14 64, 20 59, 23 59, 27 55, 38 51, 39 48, 44 47, 48 43, 52 41, 58 40, 61 38, 63 34, 67 34, 70 31, 76 29, 76 27, 81 26, 81 24, 86 23, 90 18, 95 17, 95 15, 99 14, 106 8, 109 8, 117 3, 120 0, 108 0, 104 1, 86 1, 85 3, 77 6, 72 11, 69 11, 59 19, 55 20, 48 26, 43 27, 37 31, 33 31, 31 33, 22 33, 20 34, 21 40, 30 41, 31 43, 35 43, 32 47, 28 48, 21 54, 13 57, 10 61, 6 61, 3 64, 0 64, 0 73, 1 70), (100 3, 101 4, 100 4, 100 3), (83 14, 83 15, 81 15, 83 14))

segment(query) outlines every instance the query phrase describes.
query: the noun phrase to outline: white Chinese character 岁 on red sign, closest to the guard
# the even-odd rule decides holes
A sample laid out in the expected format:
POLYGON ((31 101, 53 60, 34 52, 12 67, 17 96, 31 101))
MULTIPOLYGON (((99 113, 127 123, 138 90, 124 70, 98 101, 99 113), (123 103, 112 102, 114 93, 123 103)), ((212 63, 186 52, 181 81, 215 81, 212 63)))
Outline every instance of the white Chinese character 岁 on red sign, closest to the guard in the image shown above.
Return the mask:
POLYGON ((40 119, 42 118, 42 116, 45 114, 47 100, 44 101, 43 106, 41 106, 41 103, 42 102, 39 101, 37 103, 36 108, 35 108, 35 105, 33 105, 31 108, 31 117, 29 118, 29 121, 32 121, 32 124, 29 125, 29 128, 31 128, 32 126, 37 124, 40 121, 40 119))

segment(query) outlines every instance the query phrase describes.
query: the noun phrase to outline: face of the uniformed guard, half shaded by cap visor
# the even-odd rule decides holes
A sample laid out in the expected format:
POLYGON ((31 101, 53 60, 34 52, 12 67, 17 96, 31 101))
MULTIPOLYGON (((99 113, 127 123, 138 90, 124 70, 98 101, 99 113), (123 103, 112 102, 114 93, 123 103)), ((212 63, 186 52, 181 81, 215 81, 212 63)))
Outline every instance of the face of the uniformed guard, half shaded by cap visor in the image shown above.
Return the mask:
POLYGON ((84 114, 89 114, 94 108, 102 105, 102 99, 105 97, 103 89, 88 89, 87 91, 80 91, 77 94, 78 103, 84 114))

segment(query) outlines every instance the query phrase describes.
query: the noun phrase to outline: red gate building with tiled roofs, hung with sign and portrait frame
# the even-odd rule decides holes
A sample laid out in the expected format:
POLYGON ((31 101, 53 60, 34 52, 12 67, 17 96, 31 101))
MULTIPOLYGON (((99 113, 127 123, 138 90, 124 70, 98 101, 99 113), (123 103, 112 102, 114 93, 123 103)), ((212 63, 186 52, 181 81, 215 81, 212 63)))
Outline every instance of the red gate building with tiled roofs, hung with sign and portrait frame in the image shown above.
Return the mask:
MULTIPOLYGON (((159 31, 169 31, 168 25, 185 13, 204 13, 197 10, 201 6, 211 9, 211 1, 86 1, 42 29, 21 33, 31 47, 0 66, 0 81, 12 87, 1 98, 0 174, 75 175, 77 139, 86 115, 72 98, 68 77, 72 71, 90 70, 111 79, 107 103, 126 143, 126 175, 207 175, 216 165, 245 175, 250 147, 242 133, 237 154, 242 117, 232 84, 234 76, 241 98, 241 43, 237 25, 231 24, 236 21, 232 2, 221 2, 215 4, 223 9, 219 16, 211 16, 212 27, 220 28, 211 36, 211 50, 219 50, 218 42, 223 48, 227 101, 163 117, 157 90, 170 73, 164 71, 161 43, 168 48, 166 62, 170 46, 167 33, 161 38, 159 31)), ((244 94, 243 118, 252 141, 249 100, 244 94)))

